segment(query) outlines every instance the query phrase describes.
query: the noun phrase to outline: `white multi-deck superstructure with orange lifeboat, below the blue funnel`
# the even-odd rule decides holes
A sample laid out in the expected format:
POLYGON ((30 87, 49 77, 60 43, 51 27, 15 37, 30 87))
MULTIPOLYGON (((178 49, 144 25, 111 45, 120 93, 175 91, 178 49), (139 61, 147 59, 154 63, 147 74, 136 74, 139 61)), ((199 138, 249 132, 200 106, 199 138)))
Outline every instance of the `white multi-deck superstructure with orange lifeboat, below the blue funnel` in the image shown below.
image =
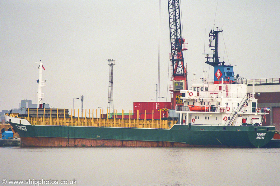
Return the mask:
POLYGON ((257 99, 253 92, 247 92, 246 84, 214 84, 200 79, 193 80, 191 90, 180 92, 184 105, 177 107, 176 112, 183 125, 262 125, 262 116, 268 110, 258 108, 257 99))

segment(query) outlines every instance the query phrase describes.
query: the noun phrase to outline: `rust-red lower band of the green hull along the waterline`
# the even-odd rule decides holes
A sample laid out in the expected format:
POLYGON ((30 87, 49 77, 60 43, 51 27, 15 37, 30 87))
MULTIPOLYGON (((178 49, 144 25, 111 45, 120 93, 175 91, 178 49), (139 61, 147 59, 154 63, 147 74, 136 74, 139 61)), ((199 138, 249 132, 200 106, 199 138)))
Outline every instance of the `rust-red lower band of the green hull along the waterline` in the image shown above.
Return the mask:
POLYGON ((22 147, 193 147, 180 142, 21 137, 22 147))

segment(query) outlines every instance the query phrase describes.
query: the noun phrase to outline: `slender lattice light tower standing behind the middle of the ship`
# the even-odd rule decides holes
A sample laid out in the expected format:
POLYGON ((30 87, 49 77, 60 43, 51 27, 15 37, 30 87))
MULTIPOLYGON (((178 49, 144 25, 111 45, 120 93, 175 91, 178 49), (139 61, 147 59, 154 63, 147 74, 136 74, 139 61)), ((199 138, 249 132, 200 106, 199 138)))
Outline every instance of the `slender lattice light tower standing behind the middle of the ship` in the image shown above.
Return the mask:
POLYGON ((114 97, 113 97, 113 66, 115 64, 115 60, 107 59, 108 65, 110 66, 109 70, 109 90, 108 90, 108 112, 109 117, 112 117, 112 113, 114 113, 114 97))

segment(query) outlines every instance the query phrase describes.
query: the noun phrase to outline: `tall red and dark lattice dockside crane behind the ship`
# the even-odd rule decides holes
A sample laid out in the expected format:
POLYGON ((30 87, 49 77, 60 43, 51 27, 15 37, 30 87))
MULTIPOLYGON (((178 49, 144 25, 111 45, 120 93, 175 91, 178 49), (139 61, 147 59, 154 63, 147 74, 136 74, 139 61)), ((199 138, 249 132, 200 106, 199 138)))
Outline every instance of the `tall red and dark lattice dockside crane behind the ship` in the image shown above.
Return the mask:
POLYGON ((169 28, 172 62, 172 77, 169 90, 171 91, 171 109, 183 105, 180 90, 187 90, 187 71, 184 66, 183 51, 188 49, 188 43, 182 39, 179 0, 168 0, 169 28), (185 45, 186 44, 186 45, 185 45))

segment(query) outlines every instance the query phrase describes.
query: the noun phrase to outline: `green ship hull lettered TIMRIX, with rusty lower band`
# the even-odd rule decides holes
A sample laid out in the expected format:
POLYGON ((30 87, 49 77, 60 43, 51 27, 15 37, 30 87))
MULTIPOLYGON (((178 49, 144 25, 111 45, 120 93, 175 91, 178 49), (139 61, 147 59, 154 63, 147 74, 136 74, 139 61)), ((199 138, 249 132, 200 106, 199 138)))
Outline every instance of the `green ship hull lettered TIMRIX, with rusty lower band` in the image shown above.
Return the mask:
POLYGON ((174 125, 170 129, 152 129, 9 123, 21 136, 21 146, 259 148, 275 133, 273 126, 174 125))

